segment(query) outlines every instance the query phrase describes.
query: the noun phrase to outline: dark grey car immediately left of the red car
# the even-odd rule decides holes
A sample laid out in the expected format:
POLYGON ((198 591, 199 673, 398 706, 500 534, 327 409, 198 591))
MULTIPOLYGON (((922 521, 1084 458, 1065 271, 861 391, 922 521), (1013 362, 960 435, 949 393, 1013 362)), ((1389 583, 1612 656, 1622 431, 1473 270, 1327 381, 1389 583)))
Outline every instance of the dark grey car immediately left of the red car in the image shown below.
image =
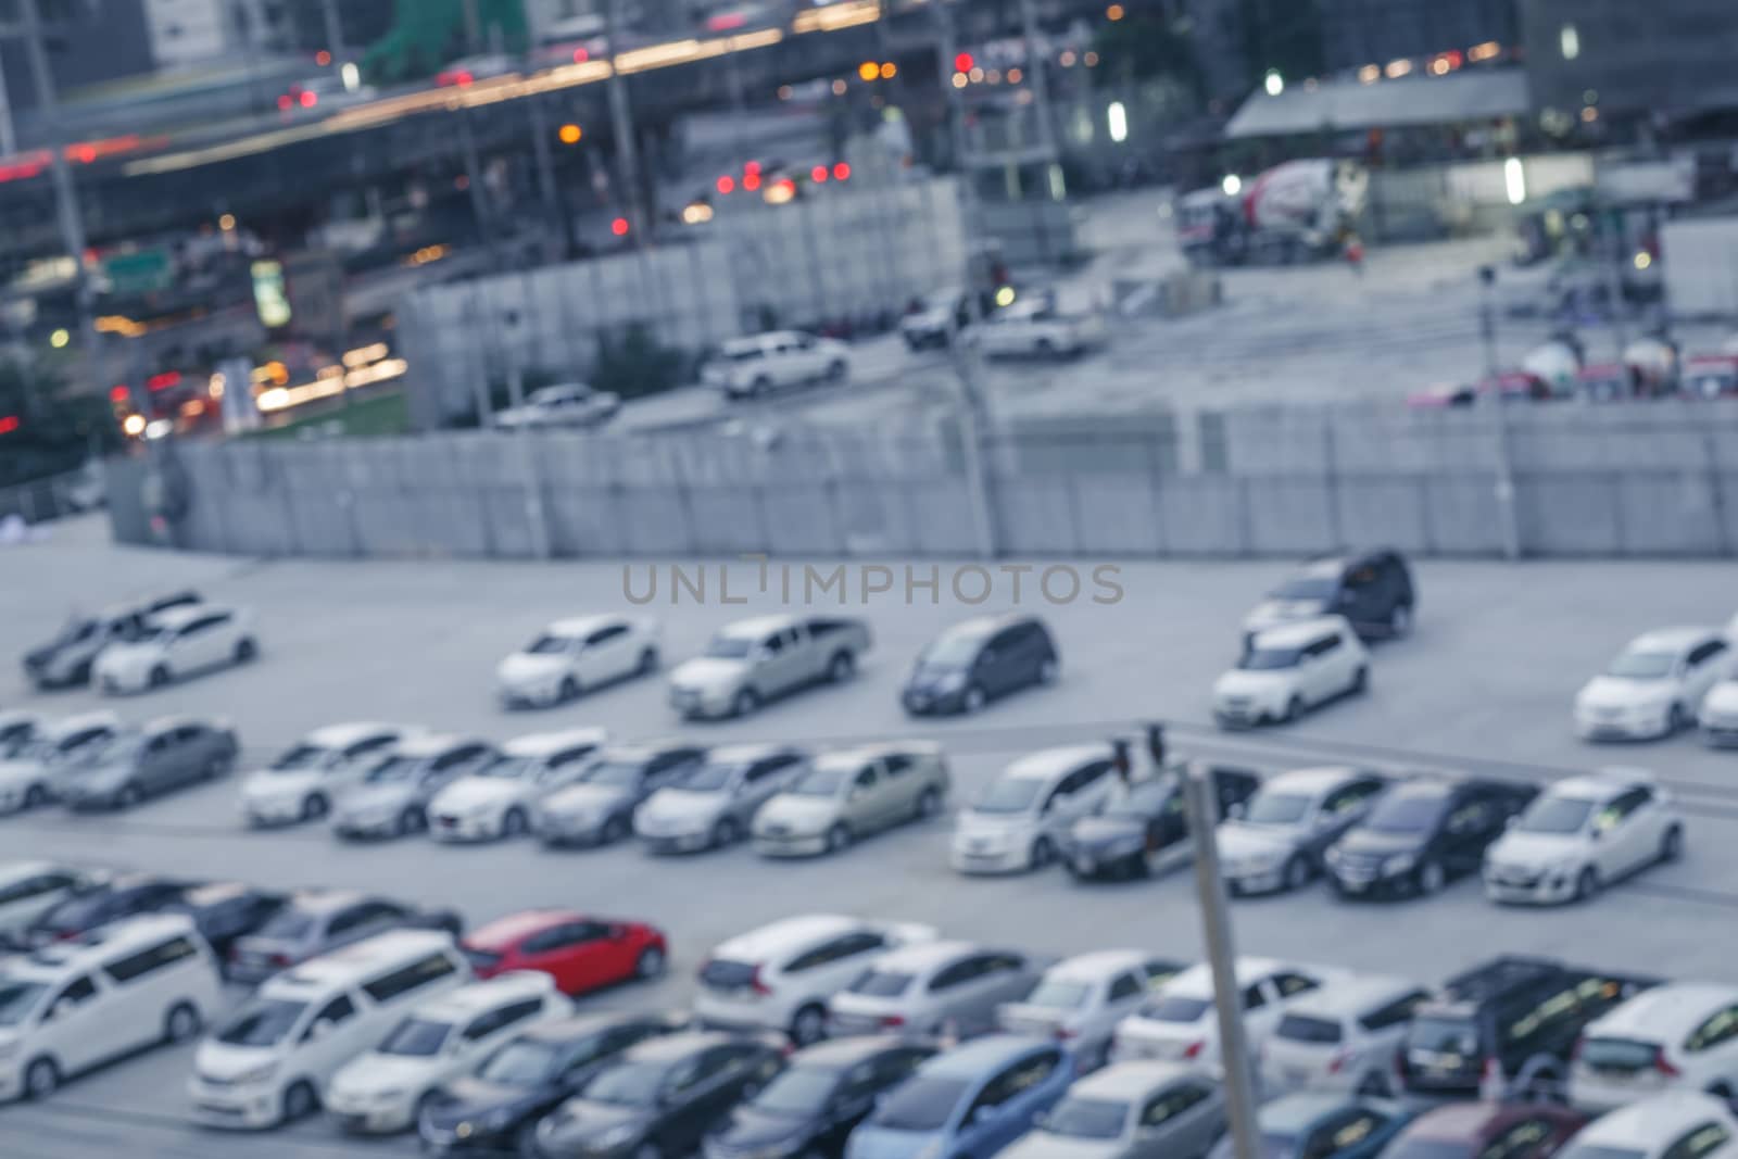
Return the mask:
POLYGON ((457 937, 459 917, 355 890, 301 890, 259 930, 236 938, 228 975, 236 982, 264 982, 280 970, 389 930, 440 930, 457 937))

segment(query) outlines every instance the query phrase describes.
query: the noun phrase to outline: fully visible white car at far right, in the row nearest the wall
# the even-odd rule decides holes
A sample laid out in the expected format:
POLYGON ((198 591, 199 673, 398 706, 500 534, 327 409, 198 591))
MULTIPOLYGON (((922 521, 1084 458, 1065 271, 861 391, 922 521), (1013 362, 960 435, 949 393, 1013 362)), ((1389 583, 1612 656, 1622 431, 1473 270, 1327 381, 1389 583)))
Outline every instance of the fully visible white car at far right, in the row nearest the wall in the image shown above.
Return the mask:
POLYGON ((1712 627, 1644 632, 1576 693, 1575 732, 1583 740, 1670 737, 1696 719, 1731 662, 1731 646, 1712 627))

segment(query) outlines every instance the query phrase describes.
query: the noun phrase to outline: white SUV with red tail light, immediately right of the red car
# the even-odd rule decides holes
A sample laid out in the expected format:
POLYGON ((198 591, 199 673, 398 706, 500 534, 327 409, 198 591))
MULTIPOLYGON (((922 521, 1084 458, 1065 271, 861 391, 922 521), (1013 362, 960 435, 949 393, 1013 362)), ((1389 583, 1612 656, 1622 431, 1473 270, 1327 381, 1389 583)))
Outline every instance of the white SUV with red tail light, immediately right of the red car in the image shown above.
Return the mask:
POLYGON ((693 1017, 709 1027, 777 1030, 806 1046, 826 1034, 834 994, 883 954, 933 940, 930 926, 836 914, 782 917, 706 956, 693 1017))

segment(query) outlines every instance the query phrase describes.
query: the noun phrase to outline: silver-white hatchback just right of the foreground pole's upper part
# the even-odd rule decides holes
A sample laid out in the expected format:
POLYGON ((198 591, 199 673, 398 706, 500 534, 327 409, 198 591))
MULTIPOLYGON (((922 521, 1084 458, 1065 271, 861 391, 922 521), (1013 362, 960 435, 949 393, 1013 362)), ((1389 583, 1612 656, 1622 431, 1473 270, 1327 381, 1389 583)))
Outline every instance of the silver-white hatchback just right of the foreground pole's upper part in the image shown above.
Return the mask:
POLYGON ((1295 768, 1267 778, 1218 825, 1218 867, 1232 895, 1300 890, 1323 857, 1387 789, 1361 768, 1295 768))

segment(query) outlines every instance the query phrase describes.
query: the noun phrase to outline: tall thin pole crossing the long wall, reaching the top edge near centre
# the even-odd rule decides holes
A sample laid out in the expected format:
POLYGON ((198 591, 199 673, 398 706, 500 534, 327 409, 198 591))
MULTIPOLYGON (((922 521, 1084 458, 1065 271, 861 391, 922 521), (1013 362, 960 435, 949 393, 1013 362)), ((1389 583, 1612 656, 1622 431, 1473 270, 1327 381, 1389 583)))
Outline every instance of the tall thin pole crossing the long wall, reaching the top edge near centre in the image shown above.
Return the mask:
MULTIPOLYGON (((965 278, 961 281, 966 306, 966 327, 982 321, 977 278, 977 189, 972 162, 966 156, 965 96, 952 85, 954 73, 954 21, 942 3, 932 5, 937 36, 937 68, 942 92, 947 94, 947 122, 954 141, 956 193, 959 198, 959 243, 965 247, 965 278)), ((998 554, 996 509, 991 502, 989 464, 984 460, 984 361, 975 342, 966 342, 954 321, 951 348, 959 374, 959 445, 965 457, 966 497, 972 504, 972 527, 977 532, 977 553, 992 560, 998 554)))

